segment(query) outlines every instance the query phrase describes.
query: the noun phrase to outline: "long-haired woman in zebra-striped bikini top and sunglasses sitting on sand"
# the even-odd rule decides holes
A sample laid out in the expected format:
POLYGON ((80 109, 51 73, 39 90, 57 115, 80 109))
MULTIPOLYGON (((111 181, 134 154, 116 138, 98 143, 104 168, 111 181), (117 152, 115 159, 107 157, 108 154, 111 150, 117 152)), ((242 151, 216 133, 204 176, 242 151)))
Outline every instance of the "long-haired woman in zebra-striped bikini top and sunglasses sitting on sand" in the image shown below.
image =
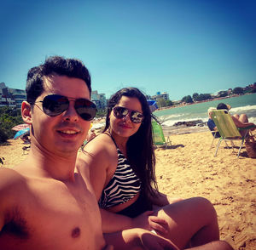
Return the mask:
POLYGON ((90 168, 103 232, 141 227, 180 249, 231 249, 218 241, 212 203, 202 197, 181 200, 161 194, 154 166, 147 99, 137 88, 122 88, 109 99, 103 133, 84 146, 77 160, 79 173, 90 168))

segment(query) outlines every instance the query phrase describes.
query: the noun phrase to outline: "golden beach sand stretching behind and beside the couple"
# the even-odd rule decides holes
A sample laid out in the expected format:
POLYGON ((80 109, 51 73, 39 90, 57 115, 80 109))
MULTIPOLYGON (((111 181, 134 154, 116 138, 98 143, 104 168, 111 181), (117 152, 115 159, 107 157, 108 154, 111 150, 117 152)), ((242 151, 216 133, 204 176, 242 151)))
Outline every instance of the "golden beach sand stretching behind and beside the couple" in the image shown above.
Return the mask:
MULTIPOLYGON (((172 145, 155 150, 160 191, 173 197, 206 197, 218 213, 220 238, 235 249, 256 249, 256 159, 247 157, 245 147, 237 159, 237 148, 233 153, 224 142, 214 157, 218 140, 210 149, 212 134, 204 128, 167 134, 172 145)), ((0 146, 3 167, 12 168, 25 159, 23 146, 21 139, 0 146)))

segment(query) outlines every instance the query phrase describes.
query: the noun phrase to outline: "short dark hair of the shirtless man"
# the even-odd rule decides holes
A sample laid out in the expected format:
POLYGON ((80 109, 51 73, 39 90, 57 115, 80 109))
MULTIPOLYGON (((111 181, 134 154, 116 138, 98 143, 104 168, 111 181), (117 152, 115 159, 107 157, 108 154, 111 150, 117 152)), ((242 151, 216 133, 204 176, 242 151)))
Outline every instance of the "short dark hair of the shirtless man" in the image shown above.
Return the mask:
MULTIPOLYGON (((27 102, 34 104, 38 96, 44 92, 44 77, 55 75, 82 79, 91 93, 90 73, 82 61, 51 56, 44 61, 43 65, 38 65, 28 71, 26 78, 27 102)), ((72 91, 72 86, 70 89, 72 91)))

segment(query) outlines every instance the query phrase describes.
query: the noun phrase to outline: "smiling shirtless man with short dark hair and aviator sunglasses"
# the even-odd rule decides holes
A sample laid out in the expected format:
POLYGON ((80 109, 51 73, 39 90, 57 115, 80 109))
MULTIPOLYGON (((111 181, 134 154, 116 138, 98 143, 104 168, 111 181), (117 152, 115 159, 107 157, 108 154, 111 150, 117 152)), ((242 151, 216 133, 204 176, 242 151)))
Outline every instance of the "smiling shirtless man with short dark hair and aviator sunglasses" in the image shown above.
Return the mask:
POLYGON ((79 60, 51 57, 28 72, 21 115, 30 125, 31 150, 20 165, 0 169, 1 249, 113 249, 106 241, 115 249, 177 249, 147 230, 102 235, 89 173, 75 168, 96 112, 90 92, 79 60))

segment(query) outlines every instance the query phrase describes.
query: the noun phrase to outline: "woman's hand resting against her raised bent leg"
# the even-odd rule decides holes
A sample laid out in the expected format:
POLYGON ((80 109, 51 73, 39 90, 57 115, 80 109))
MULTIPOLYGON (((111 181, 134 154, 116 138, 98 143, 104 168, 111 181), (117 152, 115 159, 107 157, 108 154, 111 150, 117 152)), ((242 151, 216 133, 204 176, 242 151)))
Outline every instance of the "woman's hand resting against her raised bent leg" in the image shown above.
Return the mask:
POLYGON ((155 230, 160 232, 160 234, 168 233, 168 224, 165 219, 160 219, 157 216, 151 215, 154 211, 147 211, 136 218, 132 219, 131 228, 143 228, 145 230, 155 230))

